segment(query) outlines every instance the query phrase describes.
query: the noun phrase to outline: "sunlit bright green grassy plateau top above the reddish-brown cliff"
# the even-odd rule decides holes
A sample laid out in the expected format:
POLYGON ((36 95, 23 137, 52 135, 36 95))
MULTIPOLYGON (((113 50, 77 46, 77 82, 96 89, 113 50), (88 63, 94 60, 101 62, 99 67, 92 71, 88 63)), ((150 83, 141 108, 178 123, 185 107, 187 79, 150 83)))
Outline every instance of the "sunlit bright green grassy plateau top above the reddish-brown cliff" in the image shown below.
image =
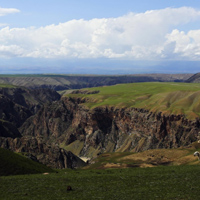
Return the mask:
POLYGON ((69 94, 86 99, 89 108, 117 106, 144 108, 153 112, 200 116, 200 84, 195 83, 131 83, 89 88, 97 94, 69 94))

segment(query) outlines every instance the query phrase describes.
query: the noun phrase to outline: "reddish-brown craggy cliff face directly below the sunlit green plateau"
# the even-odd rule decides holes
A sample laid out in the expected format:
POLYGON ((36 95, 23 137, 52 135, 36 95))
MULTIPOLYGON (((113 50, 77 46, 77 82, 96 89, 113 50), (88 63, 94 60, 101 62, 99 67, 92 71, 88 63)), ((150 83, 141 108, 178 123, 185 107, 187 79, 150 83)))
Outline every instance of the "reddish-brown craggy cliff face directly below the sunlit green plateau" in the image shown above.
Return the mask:
POLYGON ((187 146, 197 140, 200 121, 182 115, 165 116, 148 110, 80 105, 80 99, 62 98, 43 107, 29 118, 20 132, 23 136, 42 136, 77 154, 93 157, 103 152, 143 151, 154 148, 187 146))

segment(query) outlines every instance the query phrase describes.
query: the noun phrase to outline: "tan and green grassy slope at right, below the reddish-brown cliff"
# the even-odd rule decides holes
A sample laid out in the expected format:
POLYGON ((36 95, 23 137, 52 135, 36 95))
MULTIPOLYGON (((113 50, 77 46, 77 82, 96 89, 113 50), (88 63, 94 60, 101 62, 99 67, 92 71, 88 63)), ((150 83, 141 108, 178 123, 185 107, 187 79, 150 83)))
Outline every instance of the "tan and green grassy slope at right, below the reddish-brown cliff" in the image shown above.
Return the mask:
POLYGON ((190 148, 151 149, 144 152, 104 153, 92 161, 86 169, 107 169, 127 167, 158 167, 175 165, 198 165, 195 151, 200 150, 200 144, 195 142, 190 148))

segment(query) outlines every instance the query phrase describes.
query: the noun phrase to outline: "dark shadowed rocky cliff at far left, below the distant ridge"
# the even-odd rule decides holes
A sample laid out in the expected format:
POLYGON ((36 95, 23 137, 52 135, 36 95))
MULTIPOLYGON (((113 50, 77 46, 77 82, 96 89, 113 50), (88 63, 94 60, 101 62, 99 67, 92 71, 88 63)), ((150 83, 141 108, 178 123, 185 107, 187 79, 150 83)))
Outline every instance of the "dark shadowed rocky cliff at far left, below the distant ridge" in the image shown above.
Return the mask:
POLYGON ((17 128, 45 103, 59 99, 50 89, 0 88, 0 136, 19 137, 17 128))

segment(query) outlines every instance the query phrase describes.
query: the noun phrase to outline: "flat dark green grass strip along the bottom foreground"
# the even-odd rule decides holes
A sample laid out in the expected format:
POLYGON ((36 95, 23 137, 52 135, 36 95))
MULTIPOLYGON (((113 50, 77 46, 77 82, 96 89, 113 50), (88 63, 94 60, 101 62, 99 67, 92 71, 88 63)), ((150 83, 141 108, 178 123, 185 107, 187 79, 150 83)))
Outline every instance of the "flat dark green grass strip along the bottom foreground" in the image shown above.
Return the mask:
POLYGON ((194 165, 0 177, 0 199, 196 200, 199 176, 200 166, 194 165))

